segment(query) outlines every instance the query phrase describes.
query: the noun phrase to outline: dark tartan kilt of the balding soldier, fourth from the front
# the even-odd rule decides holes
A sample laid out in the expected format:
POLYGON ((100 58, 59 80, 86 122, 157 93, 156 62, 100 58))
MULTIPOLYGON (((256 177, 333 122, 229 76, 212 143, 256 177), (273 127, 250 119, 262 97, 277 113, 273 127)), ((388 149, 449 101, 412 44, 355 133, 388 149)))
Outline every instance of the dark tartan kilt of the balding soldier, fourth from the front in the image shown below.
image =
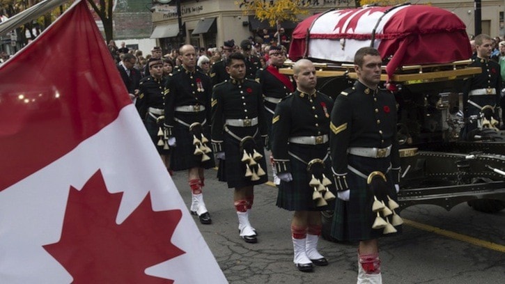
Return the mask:
MULTIPOLYGON (((203 125, 203 134, 209 142, 207 145, 212 150, 210 145, 210 129, 207 125, 203 125)), ((176 137, 176 146, 171 148, 170 168, 173 171, 182 171, 189 168, 214 168, 214 154, 212 152, 206 154, 210 157, 208 161, 201 161, 201 155, 194 155, 195 146, 193 145, 193 134, 189 132, 189 127, 176 123, 172 129, 172 135, 176 137)))

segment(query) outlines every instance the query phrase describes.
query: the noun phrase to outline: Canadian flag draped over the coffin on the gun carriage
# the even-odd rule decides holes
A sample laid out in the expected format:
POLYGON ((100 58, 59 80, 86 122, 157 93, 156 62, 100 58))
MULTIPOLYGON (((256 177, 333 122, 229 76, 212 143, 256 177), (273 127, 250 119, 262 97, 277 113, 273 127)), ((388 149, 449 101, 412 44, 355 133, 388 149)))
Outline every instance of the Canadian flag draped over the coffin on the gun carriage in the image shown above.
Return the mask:
POLYGON ((373 46, 391 77, 401 65, 470 58, 465 29, 455 14, 426 5, 330 10, 297 25, 289 56, 352 63, 357 49, 373 46))

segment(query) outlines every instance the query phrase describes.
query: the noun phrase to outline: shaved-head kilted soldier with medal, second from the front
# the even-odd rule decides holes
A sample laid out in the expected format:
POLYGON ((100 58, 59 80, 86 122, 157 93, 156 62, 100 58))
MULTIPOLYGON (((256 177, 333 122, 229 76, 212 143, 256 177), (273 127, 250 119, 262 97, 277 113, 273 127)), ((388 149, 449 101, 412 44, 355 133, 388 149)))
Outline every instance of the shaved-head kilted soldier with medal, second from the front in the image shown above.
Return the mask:
POLYGON ((317 245, 320 212, 329 210, 327 201, 335 198, 328 155, 333 101, 316 90, 316 68, 311 61, 297 61, 293 77, 297 90, 277 104, 272 120, 272 154, 281 179, 277 206, 295 212, 291 221, 293 261, 300 271, 312 271, 313 265, 328 265, 317 245), (325 201, 313 199, 314 187, 323 191, 318 198, 325 201))

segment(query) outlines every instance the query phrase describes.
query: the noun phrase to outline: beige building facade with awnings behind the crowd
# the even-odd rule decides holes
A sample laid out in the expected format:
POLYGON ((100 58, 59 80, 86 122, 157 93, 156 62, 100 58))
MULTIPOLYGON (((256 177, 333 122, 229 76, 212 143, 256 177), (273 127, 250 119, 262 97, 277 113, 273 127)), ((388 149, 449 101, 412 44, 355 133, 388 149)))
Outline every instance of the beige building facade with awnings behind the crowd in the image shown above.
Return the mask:
MULTIPOLYGON (((176 0, 153 1, 153 32, 150 38, 169 52, 182 44, 192 44, 196 47, 220 47, 225 40, 241 40, 256 36, 259 30, 267 27, 265 22, 259 22, 251 12, 244 14, 232 0, 180 0, 180 22, 176 9, 176 0), (162 5, 162 3, 166 5, 162 5), (179 29, 180 28, 180 29, 179 29)), ((240 2, 240 1, 238 1, 240 2)), ((305 0, 308 14, 320 13, 331 8, 354 8, 355 1, 342 0, 305 0)), ((474 35, 474 1, 418 1, 417 4, 430 4, 455 13, 467 26, 467 33, 474 35)), ((505 1, 481 1, 482 32, 490 36, 505 36, 504 29, 505 1)), ((290 34, 295 23, 282 24, 290 34)))

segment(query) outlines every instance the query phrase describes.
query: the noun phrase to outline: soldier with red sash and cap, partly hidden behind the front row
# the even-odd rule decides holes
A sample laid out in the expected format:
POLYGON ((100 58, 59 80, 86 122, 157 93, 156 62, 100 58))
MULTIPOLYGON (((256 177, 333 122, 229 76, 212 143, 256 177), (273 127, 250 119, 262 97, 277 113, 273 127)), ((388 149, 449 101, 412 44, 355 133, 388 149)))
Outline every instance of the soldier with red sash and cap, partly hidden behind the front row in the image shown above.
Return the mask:
MULTIPOLYGON (((282 51, 281 47, 270 47, 268 51, 270 57, 270 65, 265 69, 260 69, 256 73, 256 81, 261 84, 263 91, 263 100, 265 104, 267 123, 268 123, 268 136, 272 133, 272 117, 274 116, 275 107, 283 97, 286 97, 295 90, 293 78, 279 73, 279 68, 282 67, 286 61, 286 54, 282 51)), ((268 142, 270 145, 270 142, 268 142)), ((268 148, 269 145, 267 145, 268 148)))

